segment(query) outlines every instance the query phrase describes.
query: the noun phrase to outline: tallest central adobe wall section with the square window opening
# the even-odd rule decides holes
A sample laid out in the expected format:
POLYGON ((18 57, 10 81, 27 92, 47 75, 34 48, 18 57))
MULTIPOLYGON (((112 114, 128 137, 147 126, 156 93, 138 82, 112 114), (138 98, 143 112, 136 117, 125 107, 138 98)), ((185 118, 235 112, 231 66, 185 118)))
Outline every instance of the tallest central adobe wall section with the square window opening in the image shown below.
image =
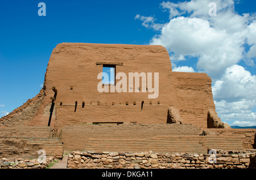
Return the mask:
POLYGON ((50 97, 56 95, 60 128, 86 122, 166 123, 168 108, 177 105, 171 76, 170 57, 163 46, 63 43, 49 59, 43 103, 51 103, 50 97), (115 74, 126 74, 127 91, 132 88, 129 72, 152 72, 152 87, 158 72, 159 96, 148 98, 153 93, 142 92, 141 84, 134 84, 133 92, 98 92, 102 64, 115 65, 115 74))

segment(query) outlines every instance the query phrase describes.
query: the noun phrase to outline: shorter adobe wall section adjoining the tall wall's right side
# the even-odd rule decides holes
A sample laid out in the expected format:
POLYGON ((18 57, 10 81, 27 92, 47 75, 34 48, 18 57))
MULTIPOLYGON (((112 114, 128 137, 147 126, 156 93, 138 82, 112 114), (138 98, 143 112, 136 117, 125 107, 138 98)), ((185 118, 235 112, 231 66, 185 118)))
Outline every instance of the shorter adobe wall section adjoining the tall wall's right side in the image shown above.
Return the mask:
POLYGON ((172 72, 183 123, 207 128, 208 110, 214 109, 212 80, 204 73, 172 72))

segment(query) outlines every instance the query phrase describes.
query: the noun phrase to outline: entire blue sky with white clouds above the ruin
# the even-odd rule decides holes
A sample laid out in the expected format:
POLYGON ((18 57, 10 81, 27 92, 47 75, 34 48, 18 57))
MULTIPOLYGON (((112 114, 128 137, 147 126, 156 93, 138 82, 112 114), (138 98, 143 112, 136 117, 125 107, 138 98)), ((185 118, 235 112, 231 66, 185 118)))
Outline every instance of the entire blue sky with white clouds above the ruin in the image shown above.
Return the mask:
POLYGON ((256 125, 256 2, 209 2, 217 4, 216 17, 205 14, 208 0, 1 1, 0 116, 40 91, 51 52, 61 42, 160 44, 174 70, 207 72, 213 79, 222 121, 256 125), (46 16, 38 15, 39 2, 46 3, 46 16), (202 33, 212 43, 208 49, 202 33), (184 35, 194 36, 184 40, 184 35))

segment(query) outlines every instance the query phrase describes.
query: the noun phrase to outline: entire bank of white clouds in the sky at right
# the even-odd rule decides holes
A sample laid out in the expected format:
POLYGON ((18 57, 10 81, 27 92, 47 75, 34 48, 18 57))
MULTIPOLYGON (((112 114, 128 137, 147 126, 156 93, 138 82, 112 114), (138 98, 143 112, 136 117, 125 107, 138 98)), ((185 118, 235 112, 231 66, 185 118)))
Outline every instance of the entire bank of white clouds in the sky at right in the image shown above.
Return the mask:
MULTIPOLYGON (((158 24, 159 33, 151 45, 163 45, 174 71, 206 72, 213 80, 213 98, 222 121, 241 126, 256 122, 256 78, 241 61, 254 67, 256 61, 256 13, 238 14, 236 0, 215 0, 216 16, 210 16, 212 0, 162 2, 170 13, 168 22, 158 24), (247 47, 247 48, 246 48, 247 47), (195 66, 179 66, 193 61, 195 66)), ((137 15, 135 19, 152 28, 156 18, 137 15)))

